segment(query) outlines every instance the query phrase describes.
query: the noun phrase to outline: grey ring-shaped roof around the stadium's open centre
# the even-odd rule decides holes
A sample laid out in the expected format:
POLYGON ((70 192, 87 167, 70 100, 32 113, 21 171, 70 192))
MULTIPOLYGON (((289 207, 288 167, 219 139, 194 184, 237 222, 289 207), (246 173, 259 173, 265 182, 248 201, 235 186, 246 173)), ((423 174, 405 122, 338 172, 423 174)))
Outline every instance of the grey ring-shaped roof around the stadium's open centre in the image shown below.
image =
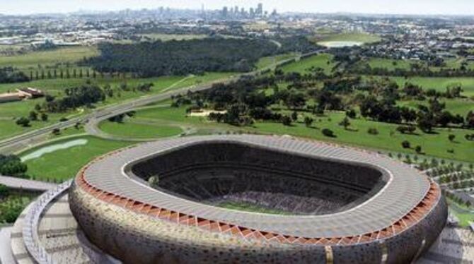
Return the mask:
POLYGON ((289 137, 250 135, 199 136, 145 143, 96 160, 85 169, 83 176, 89 184, 100 190, 159 208, 265 232, 306 237, 354 236, 390 227, 415 208, 430 188, 430 181, 417 170, 374 152, 289 137), (306 216, 269 215, 217 208, 158 191, 125 173, 127 164, 137 160, 204 142, 245 143, 298 155, 371 164, 386 172, 389 179, 381 191, 354 208, 330 215, 306 216))

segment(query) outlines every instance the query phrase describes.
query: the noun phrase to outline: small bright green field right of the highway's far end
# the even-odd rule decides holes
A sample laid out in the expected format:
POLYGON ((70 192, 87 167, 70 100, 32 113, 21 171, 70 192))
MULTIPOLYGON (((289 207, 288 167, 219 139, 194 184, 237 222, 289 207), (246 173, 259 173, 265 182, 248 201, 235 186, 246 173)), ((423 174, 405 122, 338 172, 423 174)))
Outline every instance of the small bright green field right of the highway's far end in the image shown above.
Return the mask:
POLYGON ((300 61, 295 61, 291 64, 280 67, 285 73, 297 72, 307 73, 311 67, 323 68, 326 74, 329 74, 334 67, 333 55, 330 54, 318 54, 311 56, 300 61))

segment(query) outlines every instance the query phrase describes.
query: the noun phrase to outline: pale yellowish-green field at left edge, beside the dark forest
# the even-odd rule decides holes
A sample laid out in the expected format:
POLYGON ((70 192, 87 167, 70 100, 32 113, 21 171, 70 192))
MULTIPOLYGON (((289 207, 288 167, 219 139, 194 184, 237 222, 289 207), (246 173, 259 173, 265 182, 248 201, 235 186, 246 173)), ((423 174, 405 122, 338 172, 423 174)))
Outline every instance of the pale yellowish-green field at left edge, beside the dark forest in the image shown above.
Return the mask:
POLYGON ((96 47, 62 47, 48 51, 29 52, 16 56, 0 56, 0 67, 13 66, 26 71, 38 69, 39 66, 75 64, 85 57, 98 55, 96 47))

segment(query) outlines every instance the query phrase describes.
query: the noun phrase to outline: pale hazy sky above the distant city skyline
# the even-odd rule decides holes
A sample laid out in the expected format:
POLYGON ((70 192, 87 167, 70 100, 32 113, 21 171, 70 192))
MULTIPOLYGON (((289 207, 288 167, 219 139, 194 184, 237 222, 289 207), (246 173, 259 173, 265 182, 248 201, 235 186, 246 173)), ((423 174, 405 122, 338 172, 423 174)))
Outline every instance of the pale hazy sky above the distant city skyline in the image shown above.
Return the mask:
POLYGON ((248 8, 262 2, 265 10, 306 11, 313 13, 404 13, 474 15, 474 0, 0 0, 0 13, 56 13, 82 10, 120 10, 125 8, 209 9, 222 6, 248 8))

